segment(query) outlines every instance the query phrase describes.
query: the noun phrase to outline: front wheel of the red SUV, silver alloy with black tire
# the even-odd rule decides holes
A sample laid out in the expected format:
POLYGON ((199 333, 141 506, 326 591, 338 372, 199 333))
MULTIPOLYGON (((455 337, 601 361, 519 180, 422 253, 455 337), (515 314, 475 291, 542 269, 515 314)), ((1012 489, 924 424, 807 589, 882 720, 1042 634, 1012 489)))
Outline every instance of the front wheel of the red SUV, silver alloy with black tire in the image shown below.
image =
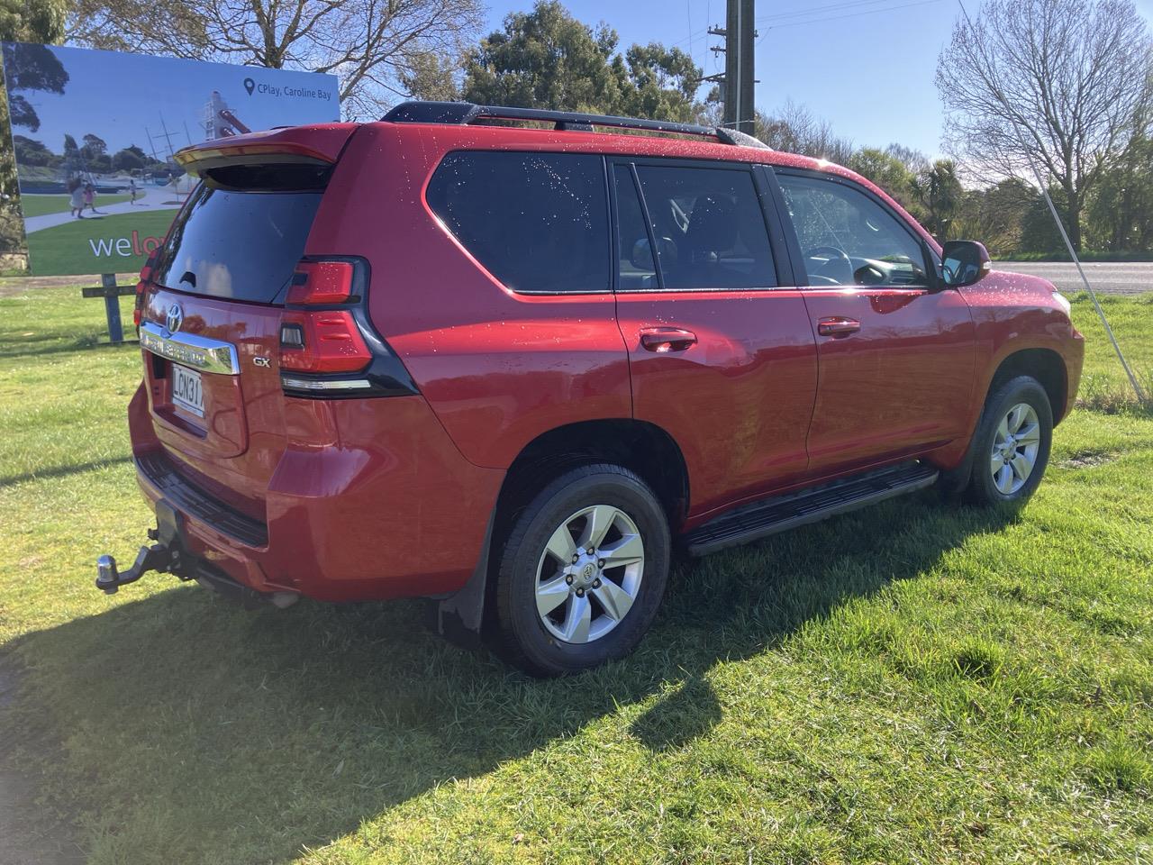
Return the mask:
POLYGON ((1030 376, 998 384, 973 434, 965 498, 980 505, 1024 502, 1041 482, 1052 445, 1053 409, 1045 388, 1030 376))

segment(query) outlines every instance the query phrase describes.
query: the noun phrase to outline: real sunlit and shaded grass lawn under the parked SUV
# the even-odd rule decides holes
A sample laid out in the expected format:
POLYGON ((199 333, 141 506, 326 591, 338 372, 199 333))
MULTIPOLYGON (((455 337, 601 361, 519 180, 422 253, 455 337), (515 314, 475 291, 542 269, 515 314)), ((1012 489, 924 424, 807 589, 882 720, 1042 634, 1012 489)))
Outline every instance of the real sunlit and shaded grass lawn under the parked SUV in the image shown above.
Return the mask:
MULTIPOLYGON (((680 563, 633 656, 536 682, 415 602, 98 594, 151 525, 140 356, 74 295, 0 300, 0 740, 92 863, 1153 860, 1153 418, 1084 299, 1120 411, 1023 511, 926 492, 680 563)), ((1107 309, 1147 371, 1153 298, 1107 309)))

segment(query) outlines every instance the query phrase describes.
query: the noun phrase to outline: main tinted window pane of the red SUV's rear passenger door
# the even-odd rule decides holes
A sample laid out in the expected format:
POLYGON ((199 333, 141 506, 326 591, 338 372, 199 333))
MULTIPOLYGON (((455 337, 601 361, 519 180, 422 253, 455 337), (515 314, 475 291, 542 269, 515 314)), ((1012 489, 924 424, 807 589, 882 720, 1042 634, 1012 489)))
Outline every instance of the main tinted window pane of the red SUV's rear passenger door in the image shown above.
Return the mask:
MULTIPOLYGON (((776 286, 764 215, 748 170, 638 165, 636 174, 664 288, 776 286)), ((633 247, 628 238, 620 240, 624 256, 633 247)))

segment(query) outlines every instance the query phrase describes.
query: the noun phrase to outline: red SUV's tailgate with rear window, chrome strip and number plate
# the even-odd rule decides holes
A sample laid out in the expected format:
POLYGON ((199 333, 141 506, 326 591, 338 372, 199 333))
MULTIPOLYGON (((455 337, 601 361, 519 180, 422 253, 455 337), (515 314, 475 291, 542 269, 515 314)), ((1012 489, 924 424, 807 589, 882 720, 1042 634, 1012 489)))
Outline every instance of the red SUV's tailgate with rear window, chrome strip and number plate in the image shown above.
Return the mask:
POLYGON ((143 299, 145 381, 165 456, 261 519, 286 441, 282 306, 330 168, 238 158, 203 172, 143 299))

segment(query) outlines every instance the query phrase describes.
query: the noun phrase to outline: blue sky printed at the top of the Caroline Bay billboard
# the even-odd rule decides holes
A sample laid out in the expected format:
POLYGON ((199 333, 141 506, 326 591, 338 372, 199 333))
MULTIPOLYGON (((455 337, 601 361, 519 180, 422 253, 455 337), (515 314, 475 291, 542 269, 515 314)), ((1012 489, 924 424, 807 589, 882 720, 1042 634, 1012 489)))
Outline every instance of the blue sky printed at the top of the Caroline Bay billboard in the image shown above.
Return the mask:
POLYGON ((167 153, 159 152, 167 150, 161 137, 164 127, 172 134, 174 149, 188 144, 189 138, 203 141, 198 123, 212 90, 220 91, 250 129, 339 119, 336 78, 330 75, 82 48, 52 50, 68 72, 65 92, 23 91, 40 118, 40 128, 32 133, 17 127, 14 131, 44 142, 56 153, 63 150, 65 133, 77 143, 88 133, 98 135, 110 152, 129 144, 149 152, 151 133, 157 156, 164 158, 167 153), (244 78, 253 78, 251 96, 244 78), (274 88, 280 88, 279 93, 274 88), (317 96, 291 96, 288 88, 317 91, 317 96), (322 91, 331 98, 321 98, 322 91))

